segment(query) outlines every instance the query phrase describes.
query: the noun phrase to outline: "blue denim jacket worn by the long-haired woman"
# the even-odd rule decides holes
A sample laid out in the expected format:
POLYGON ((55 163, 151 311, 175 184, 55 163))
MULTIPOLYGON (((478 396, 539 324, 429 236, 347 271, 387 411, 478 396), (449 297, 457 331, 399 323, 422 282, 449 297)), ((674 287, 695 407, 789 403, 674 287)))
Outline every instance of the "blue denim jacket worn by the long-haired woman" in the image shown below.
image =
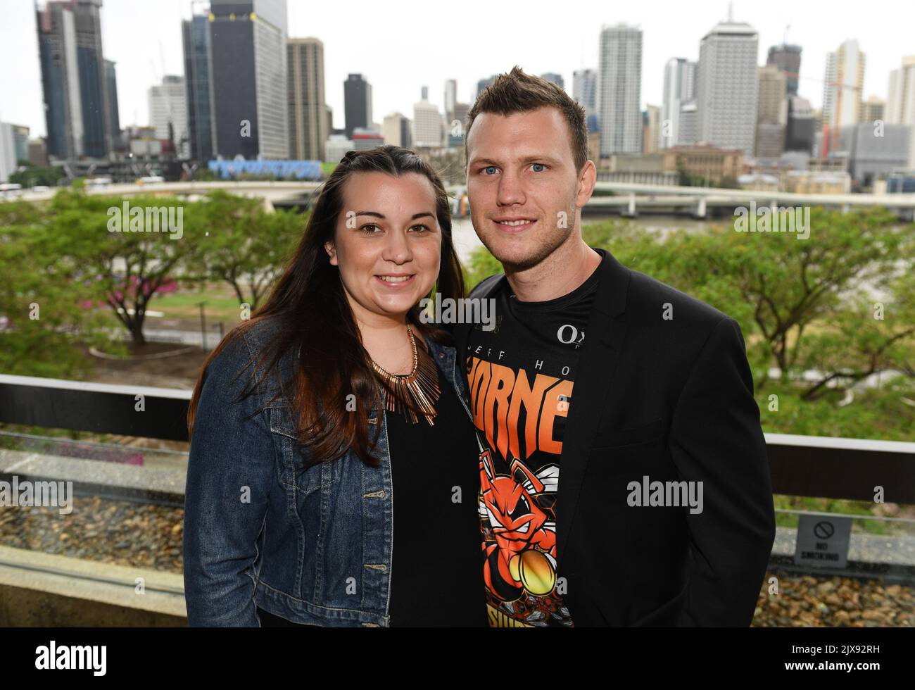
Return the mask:
MULTIPOLYGON (((393 491, 385 416, 377 406, 369 415, 382 425, 380 467, 350 450, 303 470, 307 449, 296 444, 288 402, 254 414, 277 390, 273 373, 257 393, 232 402, 273 331, 268 319, 222 351, 200 394, 185 489, 188 624, 257 627, 257 606, 297 623, 388 626, 393 491)), ((428 345, 468 409, 455 349, 428 345)), ((286 355, 281 371, 291 362, 286 355)))

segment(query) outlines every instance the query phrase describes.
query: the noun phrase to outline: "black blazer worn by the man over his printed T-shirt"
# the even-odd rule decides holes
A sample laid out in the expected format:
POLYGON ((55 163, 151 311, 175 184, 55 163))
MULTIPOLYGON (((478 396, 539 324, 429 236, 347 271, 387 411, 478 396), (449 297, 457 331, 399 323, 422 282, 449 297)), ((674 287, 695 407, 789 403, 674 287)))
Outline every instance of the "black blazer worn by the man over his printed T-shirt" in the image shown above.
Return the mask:
MULTIPOLYGON (((740 327, 609 252, 597 270, 559 461, 565 603, 576 626, 746 627, 775 513, 740 327), (646 475, 702 481, 703 511, 630 507, 627 485, 646 475)), ((465 383, 470 328, 454 328, 465 383)))

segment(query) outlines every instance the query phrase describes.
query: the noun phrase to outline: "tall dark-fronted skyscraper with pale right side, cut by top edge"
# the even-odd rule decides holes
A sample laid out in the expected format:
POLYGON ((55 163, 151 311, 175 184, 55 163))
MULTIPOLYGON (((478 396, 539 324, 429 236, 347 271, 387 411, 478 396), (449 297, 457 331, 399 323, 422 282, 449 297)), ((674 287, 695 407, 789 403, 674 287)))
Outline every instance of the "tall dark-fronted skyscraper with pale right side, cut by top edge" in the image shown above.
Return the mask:
POLYGON ((210 0, 210 54, 216 153, 285 158, 286 0, 210 0))

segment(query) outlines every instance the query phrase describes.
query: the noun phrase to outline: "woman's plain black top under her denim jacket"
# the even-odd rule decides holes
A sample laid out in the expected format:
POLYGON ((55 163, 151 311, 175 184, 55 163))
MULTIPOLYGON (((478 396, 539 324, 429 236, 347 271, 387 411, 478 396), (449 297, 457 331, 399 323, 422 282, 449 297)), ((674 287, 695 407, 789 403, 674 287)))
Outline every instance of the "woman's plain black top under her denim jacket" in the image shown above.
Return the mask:
MULTIPOLYGON (((391 626, 486 627, 477 500, 479 448, 467 410, 436 367, 435 425, 385 411, 393 484, 391 626)), ((263 627, 302 626, 257 609, 263 627)))

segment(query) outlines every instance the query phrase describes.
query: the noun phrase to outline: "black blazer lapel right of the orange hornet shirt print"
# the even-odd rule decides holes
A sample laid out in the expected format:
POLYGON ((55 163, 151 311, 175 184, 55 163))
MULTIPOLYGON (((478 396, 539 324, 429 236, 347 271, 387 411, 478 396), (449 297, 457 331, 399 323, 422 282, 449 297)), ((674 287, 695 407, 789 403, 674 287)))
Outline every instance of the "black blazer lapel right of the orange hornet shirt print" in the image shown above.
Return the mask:
POLYGON ((609 251, 597 269, 601 272, 594 307, 587 321, 585 342, 578 354, 575 384, 565 422, 559 459, 556 497, 556 566, 562 564, 565 544, 575 517, 581 483, 587 469, 592 439, 612 387, 626 323, 615 318, 626 309, 630 271, 609 251))

